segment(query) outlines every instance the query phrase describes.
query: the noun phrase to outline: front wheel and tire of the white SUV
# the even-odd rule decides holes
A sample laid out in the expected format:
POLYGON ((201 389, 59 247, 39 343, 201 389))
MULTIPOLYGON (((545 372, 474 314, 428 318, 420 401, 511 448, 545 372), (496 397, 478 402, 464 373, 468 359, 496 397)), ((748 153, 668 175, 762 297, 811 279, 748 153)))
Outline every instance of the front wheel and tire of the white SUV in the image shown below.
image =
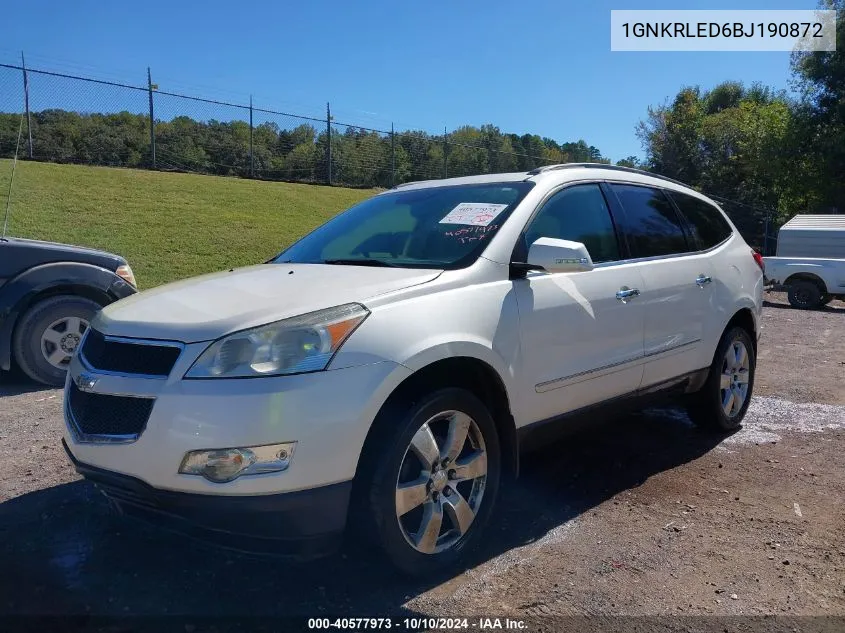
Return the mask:
POLYGON ((362 470, 362 505, 367 511, 359 515, 364 517, 357 526, 359 535, 369 532, 366 536, 375 540, 390 562, 409 576, 455 568, 479 543, 496 501, 502 472, 496 425, 484 404, 464 389, 440 389, 416 402, 400 403, 398 409, 390 411, 396 414, 394 417, 388 413, 392 423, 376 421, 374 432, 380 435, 368 445, 369 454, 363 456, 366 466, 362 470), (449 429, 463 425, 468 432, 461 450, 443 468, 437 460, 454 455, 456 450, 447 450, 449 429), (433 439, 435 444, 432 446, 426 439, 433 439), (426 451, 426 447, 430 450, 426 451), (433 468, 427 467, 432 460, 421 457, 424 454, 437 455, 433 468), (483 457, 486 470, 479 475, 485 465, 483 457), (461 468, 467 476, 476 477, 452 479, 461 468), (400 485, 409 483, 414 485, 402 486, 406 494, 400 497, 400 485), (400 516, 397 510, 401 499, 408 511, 400 516), (468 509, 471 514, 467 514, 468 509), (458 517, 465 521, 463 531, 458 517), (432 528, 428 538, 424 525, 432 528))

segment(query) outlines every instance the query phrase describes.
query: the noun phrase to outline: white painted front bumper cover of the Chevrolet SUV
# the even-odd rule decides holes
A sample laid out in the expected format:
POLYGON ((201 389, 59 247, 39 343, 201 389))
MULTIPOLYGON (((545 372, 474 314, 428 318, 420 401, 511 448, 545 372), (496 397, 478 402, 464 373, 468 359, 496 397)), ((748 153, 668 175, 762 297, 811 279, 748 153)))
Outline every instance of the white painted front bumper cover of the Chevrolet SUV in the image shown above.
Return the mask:
MULTIPOLYGON (((191 352, 178 363, 192 362, 191 352)), ((154 398, 146 426, 128 442, 86 441, 65 407, 64 437, 74 457, 155 489, 202 495, 272 495, 347 482, 355 476, 373 419, 410 374, 389 362, 242 380, 182 380, 183 369, 175 368, 167 380, 96 374, 74 356, 69 380, 83 372, 93 376, 89 393, 154 398), (178 472, 190 451, 286 442, 296 446, 283 472, 228 483, 178 472)))

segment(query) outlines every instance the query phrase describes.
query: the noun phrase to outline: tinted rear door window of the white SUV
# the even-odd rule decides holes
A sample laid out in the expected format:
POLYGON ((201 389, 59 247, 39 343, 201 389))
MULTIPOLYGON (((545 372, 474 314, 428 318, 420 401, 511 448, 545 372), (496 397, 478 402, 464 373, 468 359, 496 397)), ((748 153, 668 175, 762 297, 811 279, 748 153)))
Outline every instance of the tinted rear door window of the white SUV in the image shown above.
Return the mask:
POLYGON ((632 257, 687 253, 681 220, 663 192, 637 185, 611 185, 622 203, 622 229, 632 257))

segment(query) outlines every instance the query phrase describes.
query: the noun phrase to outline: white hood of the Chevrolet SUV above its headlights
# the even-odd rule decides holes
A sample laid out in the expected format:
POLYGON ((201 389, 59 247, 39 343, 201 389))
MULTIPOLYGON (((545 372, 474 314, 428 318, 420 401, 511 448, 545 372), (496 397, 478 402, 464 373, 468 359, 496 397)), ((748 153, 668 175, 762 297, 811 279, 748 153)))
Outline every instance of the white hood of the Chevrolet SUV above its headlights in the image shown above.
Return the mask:
MULTIPOLYGON (((441 270, 262 264, 146 290, 105 307, 105 334, 196 343, 436 279, 441 270)), ((366 305, 366 304, 365 304, 366 305)))

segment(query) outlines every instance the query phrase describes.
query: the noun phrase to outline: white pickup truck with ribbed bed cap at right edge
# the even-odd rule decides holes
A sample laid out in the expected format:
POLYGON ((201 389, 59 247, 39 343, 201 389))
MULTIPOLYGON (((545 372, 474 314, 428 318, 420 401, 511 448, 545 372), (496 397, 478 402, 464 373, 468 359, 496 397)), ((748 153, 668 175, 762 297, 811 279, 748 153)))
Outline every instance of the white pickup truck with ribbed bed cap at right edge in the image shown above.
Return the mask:
POLYGON ((763 261, 767 287, 786 291, 793 307, 845 301, 845 215, 796 215, 778 233, 776 256, 763 261))

